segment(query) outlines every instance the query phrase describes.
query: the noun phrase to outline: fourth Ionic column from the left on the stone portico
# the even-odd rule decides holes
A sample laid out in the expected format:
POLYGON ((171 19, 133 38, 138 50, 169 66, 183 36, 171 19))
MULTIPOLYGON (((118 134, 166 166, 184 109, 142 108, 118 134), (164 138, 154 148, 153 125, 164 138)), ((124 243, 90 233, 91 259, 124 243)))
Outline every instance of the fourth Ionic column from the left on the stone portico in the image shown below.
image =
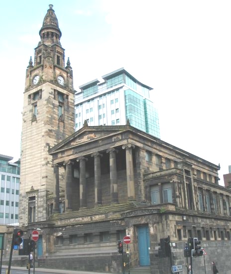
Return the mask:
POLYGON ((95 165, 95 205, 102 205, 102 188, 101 188, 101 163, 102 154, 95 152, 91 155, 94 157, 95 165))

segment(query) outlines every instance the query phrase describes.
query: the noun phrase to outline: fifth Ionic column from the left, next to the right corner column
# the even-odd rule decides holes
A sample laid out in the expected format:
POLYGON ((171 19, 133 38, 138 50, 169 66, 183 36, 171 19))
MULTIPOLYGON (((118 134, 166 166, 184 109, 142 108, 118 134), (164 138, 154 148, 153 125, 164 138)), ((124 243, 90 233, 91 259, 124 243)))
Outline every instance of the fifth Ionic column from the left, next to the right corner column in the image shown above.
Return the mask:
POLYGON ((107 153, 110 153, 110 182, 111 182, 111 196, 112 203, 118 203, 118 184, 117 184, 117 170, 116 170, 116 156, 115 148, 109 148, 107 153))

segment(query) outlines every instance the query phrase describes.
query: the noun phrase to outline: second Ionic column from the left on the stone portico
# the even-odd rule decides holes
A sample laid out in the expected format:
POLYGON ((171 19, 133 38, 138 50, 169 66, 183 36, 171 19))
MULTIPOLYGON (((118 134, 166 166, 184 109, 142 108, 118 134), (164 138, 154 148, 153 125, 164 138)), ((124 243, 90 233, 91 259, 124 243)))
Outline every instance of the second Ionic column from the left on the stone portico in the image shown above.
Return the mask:
POLYGON ((66 166, 65 174, 65 200, 66 200, 66 210, 72 210, 72 164, 73 162, 68 160, 63 163, 66 166))

